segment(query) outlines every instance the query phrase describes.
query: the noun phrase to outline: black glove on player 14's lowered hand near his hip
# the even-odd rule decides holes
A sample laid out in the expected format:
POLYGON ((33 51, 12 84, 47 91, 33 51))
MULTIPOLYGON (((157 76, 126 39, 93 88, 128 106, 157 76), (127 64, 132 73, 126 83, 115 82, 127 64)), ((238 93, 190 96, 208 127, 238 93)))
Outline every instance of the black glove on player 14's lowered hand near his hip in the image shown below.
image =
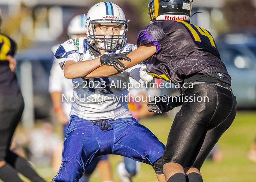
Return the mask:
POLYGON ((149 112, 155 113, 167 113, 171 111, 174 107, 181 106, 182 95, 176 96, 177 98, 173 98, 173 96, 154 96, 156 100, 152 102, 148 102, 148 107, 153 107, 152 109, 148 109, 149 112), (178 98, 180 97, 180 98, 178 98))

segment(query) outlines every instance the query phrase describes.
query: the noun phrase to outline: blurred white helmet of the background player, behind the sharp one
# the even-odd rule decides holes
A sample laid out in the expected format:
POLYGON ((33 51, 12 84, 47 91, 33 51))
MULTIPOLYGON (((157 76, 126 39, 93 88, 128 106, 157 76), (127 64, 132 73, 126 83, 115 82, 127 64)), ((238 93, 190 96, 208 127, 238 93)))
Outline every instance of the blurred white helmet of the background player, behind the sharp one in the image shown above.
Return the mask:
POLYGON ((86 34, 85 30, 85 18, 84 15, 76 15, 68 26, 68 35, 70 38, 74 37, 75 34, 86 34))

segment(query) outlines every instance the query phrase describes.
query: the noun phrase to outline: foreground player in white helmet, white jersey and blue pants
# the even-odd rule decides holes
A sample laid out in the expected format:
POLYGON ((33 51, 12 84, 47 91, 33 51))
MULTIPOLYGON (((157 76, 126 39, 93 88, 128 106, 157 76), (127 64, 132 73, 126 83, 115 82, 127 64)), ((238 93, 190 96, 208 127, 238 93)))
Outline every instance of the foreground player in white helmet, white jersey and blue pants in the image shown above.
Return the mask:
MULTIPOLYGON (((136 45, 126 43, 127 22, 122 9, 111 2, 100 2, 88 11, 84 37, 70 39, 56 51, 66 78, 72 79, 74 94, 70 122, 63 145, 62 164, 53 182, 77 182, 93 159, 115 154, 153 166, 158 180, 165 182, 161 157, 165 146, 145 126, 139 124, 128 110, 129 76, 141 82, 135 65, 122 73, 111 75, 118 60, 99 62, 91 60, 117 53, 127 54, 136 45), (91 78, 82 78, 97 67, 103 72, 91 78), (112 67, 112 66, 115 66, 112 67)), ((122 58, 122 56, 121 56, 122 58)), ((152 80, 152 76, 150 78, 152 80)))

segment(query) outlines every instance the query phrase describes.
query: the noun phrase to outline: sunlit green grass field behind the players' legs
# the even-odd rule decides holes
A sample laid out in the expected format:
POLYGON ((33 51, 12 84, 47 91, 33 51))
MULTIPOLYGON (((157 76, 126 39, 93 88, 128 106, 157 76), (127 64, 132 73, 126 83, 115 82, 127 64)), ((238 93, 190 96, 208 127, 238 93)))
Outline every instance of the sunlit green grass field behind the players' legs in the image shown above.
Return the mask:
MULTIPOLYGON (((158 115, 141 120, 141 124, 148 127, 159 140, 166 144, 172 120, 167 115, 158 115)), ((250 144, 256 137, 256 111, 239 111, 232 126, 224 133, 218 142, 223 151, 223 161, 214 163, 204 162, 201 173, 204 182, 256 182, 256 163, 246 158, 250 144)), ((114 182, 120 182, 116 173, 116 164, 122 157, 110 155, 114 182)), ((55 175, 50 168, 37 168, 37 171, 47 181, 55 175)), ((141 171, 133 178, 134 182, 157 182, 151 166, 141 165, 141 171)), ((95 171, 91 182, 100 182, 98 172, 95 171)))

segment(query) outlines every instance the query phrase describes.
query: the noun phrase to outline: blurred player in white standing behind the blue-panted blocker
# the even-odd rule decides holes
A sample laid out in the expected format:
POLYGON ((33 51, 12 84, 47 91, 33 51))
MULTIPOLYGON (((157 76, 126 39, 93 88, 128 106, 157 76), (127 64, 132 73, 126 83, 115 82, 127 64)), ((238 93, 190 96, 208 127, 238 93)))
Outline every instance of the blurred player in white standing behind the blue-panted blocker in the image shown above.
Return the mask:
MULTIPOLYGON (((72 18, 67 29, 69 38, 87 37, 84 26, 84 15, 76 15, 74 18, 72 18)), ((60 44, 54 45, 52 47, 52 52, 54 54, 56 53, 59 45, 60 44)), ((58 122, 63 124, 64 138, 69 126, 71 102, 67 102, 66 100, 63 100, 64 102, 62 102, 61 98, 62 95, 65 97, 72 97, 73 87, 72 80, 65 78, 63 70, 59 67, 59 60, 55 57, 53 59, 51 74, 49 78, 49 92, 52 97, 54 112, 56 113, 58 122)), ((59 164, 61 164, 62 146, 63 143, 60 143, 58 146, 56 146, 54 151, 52 167, 55 172, 59 170, 59 164)), ((102 182, 113 182, 111 166, 107 155, 97 157, 95 160, 93 160, 93 162, 86 168, 85 172, 83 173, 83 177, 80 178, 79 182, 89 182, 90 176, 95 170, 96 166, 100 172, 100 178, 102 182)))

